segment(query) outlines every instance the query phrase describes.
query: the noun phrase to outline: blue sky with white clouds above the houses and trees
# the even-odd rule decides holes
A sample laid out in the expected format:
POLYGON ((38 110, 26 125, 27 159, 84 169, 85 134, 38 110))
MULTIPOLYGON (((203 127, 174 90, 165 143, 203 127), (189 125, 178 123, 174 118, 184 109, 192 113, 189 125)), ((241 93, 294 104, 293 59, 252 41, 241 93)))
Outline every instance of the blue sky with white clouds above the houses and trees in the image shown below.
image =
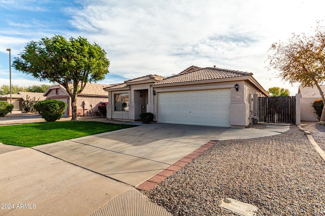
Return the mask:
MULTIPOLYGON (((61 1, 0 0, 0 85, 27 42, 61 34, 99 44, 111 61, 100 83, 147 74, 170 76, 196 65, 252 72, 265 89, 291 86, 266 69, 273 42, 310 33, 325 1, 61 1)), ((12 84, 40 84, 12 68, 12 84)), ((43 82, 45 83, 45 82, 43 82)))

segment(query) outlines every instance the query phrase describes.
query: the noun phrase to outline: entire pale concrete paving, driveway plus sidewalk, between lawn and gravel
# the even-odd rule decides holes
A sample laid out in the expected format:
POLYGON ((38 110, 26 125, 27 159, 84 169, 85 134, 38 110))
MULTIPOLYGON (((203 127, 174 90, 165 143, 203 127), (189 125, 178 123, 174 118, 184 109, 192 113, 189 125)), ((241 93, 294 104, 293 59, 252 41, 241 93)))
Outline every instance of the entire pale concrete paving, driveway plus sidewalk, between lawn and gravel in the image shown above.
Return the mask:
POLYGON ((0 209, 0 214, 171 215, 135 186, 210 140, 273 136, 288 128, 158 123, 34 149, 0 144, 0 164, 6 164, 0 167, 0 201, 14 206, 0 209))

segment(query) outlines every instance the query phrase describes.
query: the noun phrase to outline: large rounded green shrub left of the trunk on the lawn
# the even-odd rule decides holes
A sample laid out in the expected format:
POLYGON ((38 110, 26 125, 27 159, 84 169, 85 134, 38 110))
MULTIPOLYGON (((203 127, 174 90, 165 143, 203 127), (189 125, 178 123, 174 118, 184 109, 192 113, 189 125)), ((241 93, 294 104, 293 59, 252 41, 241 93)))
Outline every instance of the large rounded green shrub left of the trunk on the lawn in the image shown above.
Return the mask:
POLYGON ((63 101, 45 100, 36 103, 34 108, 46 121, 56 121, 62 117, 67 106, 63 101))

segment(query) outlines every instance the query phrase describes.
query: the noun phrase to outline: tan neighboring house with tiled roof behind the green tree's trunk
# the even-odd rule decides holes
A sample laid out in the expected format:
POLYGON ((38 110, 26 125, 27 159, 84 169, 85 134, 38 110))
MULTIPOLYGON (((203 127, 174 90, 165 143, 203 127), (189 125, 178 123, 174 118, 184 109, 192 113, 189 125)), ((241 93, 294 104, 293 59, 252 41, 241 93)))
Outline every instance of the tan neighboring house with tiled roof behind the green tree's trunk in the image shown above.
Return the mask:
MULTIPOLYGON (((108 102, 107 93, 103 88, 110 86, 111 85, 87 83, 84 90, 77 97, 77 115, 90 116, 98 112, 98 105, 102 102, 108 102)), ((44 93, 44 96, 47 97, 47 99, 55 99, 67 103, 68 106, 63 116, 72 116, 71 97, 62 85, 50 87, 44 93)))

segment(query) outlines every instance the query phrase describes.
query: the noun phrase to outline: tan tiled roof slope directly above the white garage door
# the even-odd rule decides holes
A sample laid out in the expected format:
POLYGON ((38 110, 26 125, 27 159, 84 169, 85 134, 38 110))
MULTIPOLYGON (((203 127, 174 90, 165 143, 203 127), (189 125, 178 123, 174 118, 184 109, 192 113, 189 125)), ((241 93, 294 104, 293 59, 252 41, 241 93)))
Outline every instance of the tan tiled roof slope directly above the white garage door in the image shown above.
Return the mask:
POLYGON ((182 71, 181 73, 175 76, 167 77, 160 82, 156 82, 154 83, 154 85, 209 80, 209 79, 221 79, 221 78, 240 77, 240 76, 249 76, 249 75, 252 75, 252 73, 238 71, 238 70, 206 67, 194 71, 188 71, 188 72, 182 71))

